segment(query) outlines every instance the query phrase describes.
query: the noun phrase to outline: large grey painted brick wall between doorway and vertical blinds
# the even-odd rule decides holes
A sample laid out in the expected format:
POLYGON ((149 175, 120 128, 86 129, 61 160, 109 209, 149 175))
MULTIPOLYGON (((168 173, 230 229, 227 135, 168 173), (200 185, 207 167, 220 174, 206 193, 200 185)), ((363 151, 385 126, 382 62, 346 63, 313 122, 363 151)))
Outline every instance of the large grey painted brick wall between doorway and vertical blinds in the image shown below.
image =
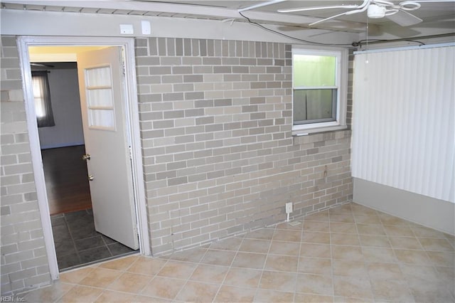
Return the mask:
MULTIPOLYGON (((352 199, 350 131, 291 137, 291 46, 137 38, 154 254, 352 199)), ((350 121, 350 119, 349 119, 350 121)))

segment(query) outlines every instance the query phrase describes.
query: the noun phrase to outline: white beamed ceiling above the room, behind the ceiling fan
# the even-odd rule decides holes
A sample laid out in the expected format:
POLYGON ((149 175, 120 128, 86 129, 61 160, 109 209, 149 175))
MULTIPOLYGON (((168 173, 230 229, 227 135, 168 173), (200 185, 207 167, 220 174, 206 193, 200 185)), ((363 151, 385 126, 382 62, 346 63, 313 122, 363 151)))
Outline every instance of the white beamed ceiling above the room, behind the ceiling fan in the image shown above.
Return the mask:
MULTIPOLYGON (((204 18, 235 22, 246 22, 240 16, 238 9, 244 9, 256 4, 270 3, 272 1, 255 0, 124 0, 124 1, 41 1, 41 0, 1 0, 2 9, 25 9, 40 11, 67 11, 90 14, 122 14, 143 16, 171 16, 177 18, 204 18)), ((308 24, 321 18, 340 14, 350 9, 323 9, 314 11, 301 11, 294 13, 279 13, 278 9, 291 9, 299 7, 332 6, 332 5, 359 5, 363 1, 338 0, 338 1, 309 1, 289 0, 261 6, 243 11, 242 14, 262 24, 282 26, 282 31, 295 30, 295 27, 309 27, 308 24), (292 26, 292 28, 289 28, 292 26)), ((392 1, 395 4, 401 1, 392 1)), ((424 30, 431 30, 432 34, 448 33, 455 31, 455 0, 427 0, 419 1, 422 6, 412 14, 424 21, 405 30, 402 26, 387 18, 367 18, 366 13, 341 16, 331 21, 319 23, 313 28, 329 29, 331 31, 363 32, 365 26, 376 26, 384 31, 403 31, 402 35, 419 36, 424 30)))

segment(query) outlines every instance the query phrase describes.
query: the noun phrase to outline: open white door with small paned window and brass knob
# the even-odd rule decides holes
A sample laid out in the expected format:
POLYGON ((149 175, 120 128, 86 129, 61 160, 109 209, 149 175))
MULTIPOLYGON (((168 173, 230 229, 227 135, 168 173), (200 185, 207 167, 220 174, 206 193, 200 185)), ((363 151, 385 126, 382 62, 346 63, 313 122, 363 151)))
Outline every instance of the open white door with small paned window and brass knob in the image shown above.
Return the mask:
POLYGON ((122 49, 78 53, 77 73, 95 229, 137 250, 122 49))

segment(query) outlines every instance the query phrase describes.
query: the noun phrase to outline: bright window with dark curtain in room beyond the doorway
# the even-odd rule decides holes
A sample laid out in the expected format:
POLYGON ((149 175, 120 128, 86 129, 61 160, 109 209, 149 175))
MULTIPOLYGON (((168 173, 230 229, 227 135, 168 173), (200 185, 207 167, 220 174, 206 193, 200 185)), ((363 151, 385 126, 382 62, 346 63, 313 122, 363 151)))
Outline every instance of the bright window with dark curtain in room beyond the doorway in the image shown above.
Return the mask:
POLYGON ((50 92, 47 71, 32 71, 33 98, 35 99, 35 112, 38 127, 55 126, 50 105, 50 92))

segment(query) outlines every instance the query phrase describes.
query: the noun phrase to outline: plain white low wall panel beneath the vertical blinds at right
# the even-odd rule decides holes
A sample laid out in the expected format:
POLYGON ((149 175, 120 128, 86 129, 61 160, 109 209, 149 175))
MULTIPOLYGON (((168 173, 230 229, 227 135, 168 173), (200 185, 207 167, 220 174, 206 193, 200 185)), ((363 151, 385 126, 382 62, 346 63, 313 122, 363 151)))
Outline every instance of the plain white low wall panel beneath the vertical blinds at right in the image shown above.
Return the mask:
POLYGON ((353 201, 455 235, 455 204, 354 178, 353 201))

